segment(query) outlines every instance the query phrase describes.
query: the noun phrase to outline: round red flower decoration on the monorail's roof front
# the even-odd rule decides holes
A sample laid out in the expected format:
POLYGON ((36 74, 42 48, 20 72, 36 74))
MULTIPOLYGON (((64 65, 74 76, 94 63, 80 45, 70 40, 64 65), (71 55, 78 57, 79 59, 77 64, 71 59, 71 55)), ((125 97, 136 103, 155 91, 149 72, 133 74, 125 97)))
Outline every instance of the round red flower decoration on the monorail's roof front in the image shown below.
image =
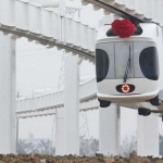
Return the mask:
POLYGON ((135 32, 135 25, 128 20, 115 20, 112 23, 113 33, 121 38, 129 37, 135 32))

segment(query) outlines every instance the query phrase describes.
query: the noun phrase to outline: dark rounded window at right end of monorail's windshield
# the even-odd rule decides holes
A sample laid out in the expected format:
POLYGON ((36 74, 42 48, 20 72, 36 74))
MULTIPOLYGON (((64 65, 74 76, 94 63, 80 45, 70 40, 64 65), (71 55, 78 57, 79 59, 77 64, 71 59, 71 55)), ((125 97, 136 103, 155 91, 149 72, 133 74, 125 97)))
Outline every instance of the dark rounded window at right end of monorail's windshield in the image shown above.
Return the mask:
POLYGON ((141 51, 139 57, 140 68, 145 77, 159 79, 159 59, 155 47, 149 47, 141 51))

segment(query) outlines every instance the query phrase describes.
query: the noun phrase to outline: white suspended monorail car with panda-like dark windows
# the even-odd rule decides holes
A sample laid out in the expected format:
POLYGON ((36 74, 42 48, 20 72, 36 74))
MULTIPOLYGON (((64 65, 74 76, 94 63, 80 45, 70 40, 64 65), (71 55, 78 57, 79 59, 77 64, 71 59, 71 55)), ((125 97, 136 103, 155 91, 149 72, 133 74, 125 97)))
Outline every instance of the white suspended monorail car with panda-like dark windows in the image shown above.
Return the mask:
POLYGON ((135 34, 127 38, 113 35, 111 25, 102 26, 96 43, 97 96, 100 106, 116 102, 139 109, 139 114, 145 116, 151 110, 161 112, 162 47, 163 30, 154 23, 140 23, 135 34))

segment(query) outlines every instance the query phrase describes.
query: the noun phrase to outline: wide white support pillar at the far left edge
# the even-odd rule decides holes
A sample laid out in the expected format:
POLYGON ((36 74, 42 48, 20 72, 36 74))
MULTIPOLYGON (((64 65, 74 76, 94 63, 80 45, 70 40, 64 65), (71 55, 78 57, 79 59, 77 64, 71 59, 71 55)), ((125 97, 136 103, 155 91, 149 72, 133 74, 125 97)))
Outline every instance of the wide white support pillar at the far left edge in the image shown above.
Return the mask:
POLYGON ((0 32, 0 153, 15 153, 15 40, 0 32))

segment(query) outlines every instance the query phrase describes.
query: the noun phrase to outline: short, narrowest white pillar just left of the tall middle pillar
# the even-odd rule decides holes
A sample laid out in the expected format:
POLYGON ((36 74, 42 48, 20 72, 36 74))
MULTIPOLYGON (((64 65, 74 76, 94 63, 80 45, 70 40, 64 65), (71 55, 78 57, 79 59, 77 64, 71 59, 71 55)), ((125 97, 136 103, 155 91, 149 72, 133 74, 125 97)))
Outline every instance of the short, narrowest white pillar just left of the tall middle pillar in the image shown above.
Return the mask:
POLYGON ((64 108, 55 112, 55 155, 64 155, 64 108))

